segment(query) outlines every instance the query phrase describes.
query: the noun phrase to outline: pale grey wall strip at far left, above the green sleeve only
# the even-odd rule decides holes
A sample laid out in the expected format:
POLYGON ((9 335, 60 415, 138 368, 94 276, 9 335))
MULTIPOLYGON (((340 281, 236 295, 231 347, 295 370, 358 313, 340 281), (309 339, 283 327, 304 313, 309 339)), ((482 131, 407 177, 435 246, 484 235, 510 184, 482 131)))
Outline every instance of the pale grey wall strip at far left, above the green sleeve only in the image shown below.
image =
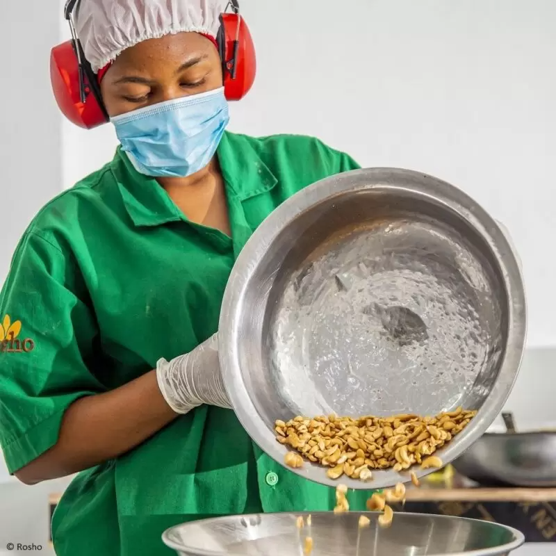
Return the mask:
MULTIPOLYGON (((49 87, 49 52, 59 40, 51 3, 2 3, 0 51, 0 283, 15 245, 40 207, 62 188, 62 119, 49 87), (40 22, 32 32, 29 21, 40 22)), ((3 318, 3 316, 0 316, 3 318)))

